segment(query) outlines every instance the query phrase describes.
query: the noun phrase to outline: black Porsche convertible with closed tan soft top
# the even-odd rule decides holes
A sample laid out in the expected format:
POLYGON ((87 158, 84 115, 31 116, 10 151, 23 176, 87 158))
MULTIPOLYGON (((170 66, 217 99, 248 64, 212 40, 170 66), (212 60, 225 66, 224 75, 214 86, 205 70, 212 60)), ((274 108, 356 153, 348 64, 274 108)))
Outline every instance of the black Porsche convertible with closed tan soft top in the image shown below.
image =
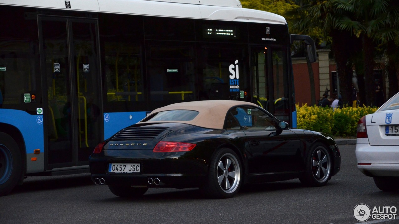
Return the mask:
POLYGON ((171 104, 120 130, 90 156, 91 179, 120 197, 148 188, 199 187, 233 197, 245 183, 299 178, 326 185, 340 171, 340 151, 324 133, 290 129, 249 102, 171 104))

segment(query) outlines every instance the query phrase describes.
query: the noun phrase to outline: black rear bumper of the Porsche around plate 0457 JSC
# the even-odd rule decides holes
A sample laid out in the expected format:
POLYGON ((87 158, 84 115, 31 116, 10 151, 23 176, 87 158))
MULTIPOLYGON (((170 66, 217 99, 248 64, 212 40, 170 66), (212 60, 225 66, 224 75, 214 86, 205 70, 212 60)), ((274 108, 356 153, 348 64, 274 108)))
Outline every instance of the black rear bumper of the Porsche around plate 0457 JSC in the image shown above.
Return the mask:
POLYGON ((207 160, 198 156, 193 158, 191 154, 190 152, 153 153, 152 150, 113 150, 105 154, 92 154, 89 159, 91 179, 93 182, 96 178, 104 179, 105 185, 150 188, 199 187, 207 175, 207 160), (109 173, 109 163, 140 163, 140 173, 109 173), (158 178, 160 183, 158 185, 154 182, 148 183, 149 178, 153 181, 158 178))

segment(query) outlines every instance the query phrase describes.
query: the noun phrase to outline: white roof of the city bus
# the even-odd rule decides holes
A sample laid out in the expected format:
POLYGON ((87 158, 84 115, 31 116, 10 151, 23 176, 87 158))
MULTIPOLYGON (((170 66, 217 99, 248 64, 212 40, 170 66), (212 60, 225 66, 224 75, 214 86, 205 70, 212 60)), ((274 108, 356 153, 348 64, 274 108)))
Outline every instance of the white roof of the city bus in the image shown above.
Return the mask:
POLYGON ((284 17, 277 14, 242 8, 239 0, 0 0, 0 5, 286 24, 284 17))

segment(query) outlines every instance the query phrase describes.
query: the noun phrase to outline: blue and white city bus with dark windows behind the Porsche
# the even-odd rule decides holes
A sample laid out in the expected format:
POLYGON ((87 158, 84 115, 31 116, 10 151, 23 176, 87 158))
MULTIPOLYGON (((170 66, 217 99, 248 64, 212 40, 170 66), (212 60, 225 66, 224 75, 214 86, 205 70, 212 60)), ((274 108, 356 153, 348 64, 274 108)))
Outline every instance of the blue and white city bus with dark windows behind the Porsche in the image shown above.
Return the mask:
POLYGON ((239 0, 0 0, 0 195, 88 172, 95 146, 167 104, 256 102, 296 126, 290 35, 239 0))

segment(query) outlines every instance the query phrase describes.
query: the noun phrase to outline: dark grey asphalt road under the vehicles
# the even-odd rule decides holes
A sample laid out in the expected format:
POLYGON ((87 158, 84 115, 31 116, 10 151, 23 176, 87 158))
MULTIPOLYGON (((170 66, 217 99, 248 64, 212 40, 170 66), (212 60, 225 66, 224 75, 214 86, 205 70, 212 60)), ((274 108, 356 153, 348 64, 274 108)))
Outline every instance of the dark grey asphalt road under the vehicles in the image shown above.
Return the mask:
MULTIPOLYGON (((202 198, 198 189, 150 189, 140 200, 114 196, 89 175, 29 177, 0 197, 0 223, 358 223, 358 204, 396 206, 399 191, 384 193, 356 168, 355 145, 340 145, 342 170, 327 186, 298 180, 247 185, 229 199, 202 198)), ((399 211, 396 212, 399 214, 399 211)), ((369 219, 365 223, 399 223, 369 219)))

